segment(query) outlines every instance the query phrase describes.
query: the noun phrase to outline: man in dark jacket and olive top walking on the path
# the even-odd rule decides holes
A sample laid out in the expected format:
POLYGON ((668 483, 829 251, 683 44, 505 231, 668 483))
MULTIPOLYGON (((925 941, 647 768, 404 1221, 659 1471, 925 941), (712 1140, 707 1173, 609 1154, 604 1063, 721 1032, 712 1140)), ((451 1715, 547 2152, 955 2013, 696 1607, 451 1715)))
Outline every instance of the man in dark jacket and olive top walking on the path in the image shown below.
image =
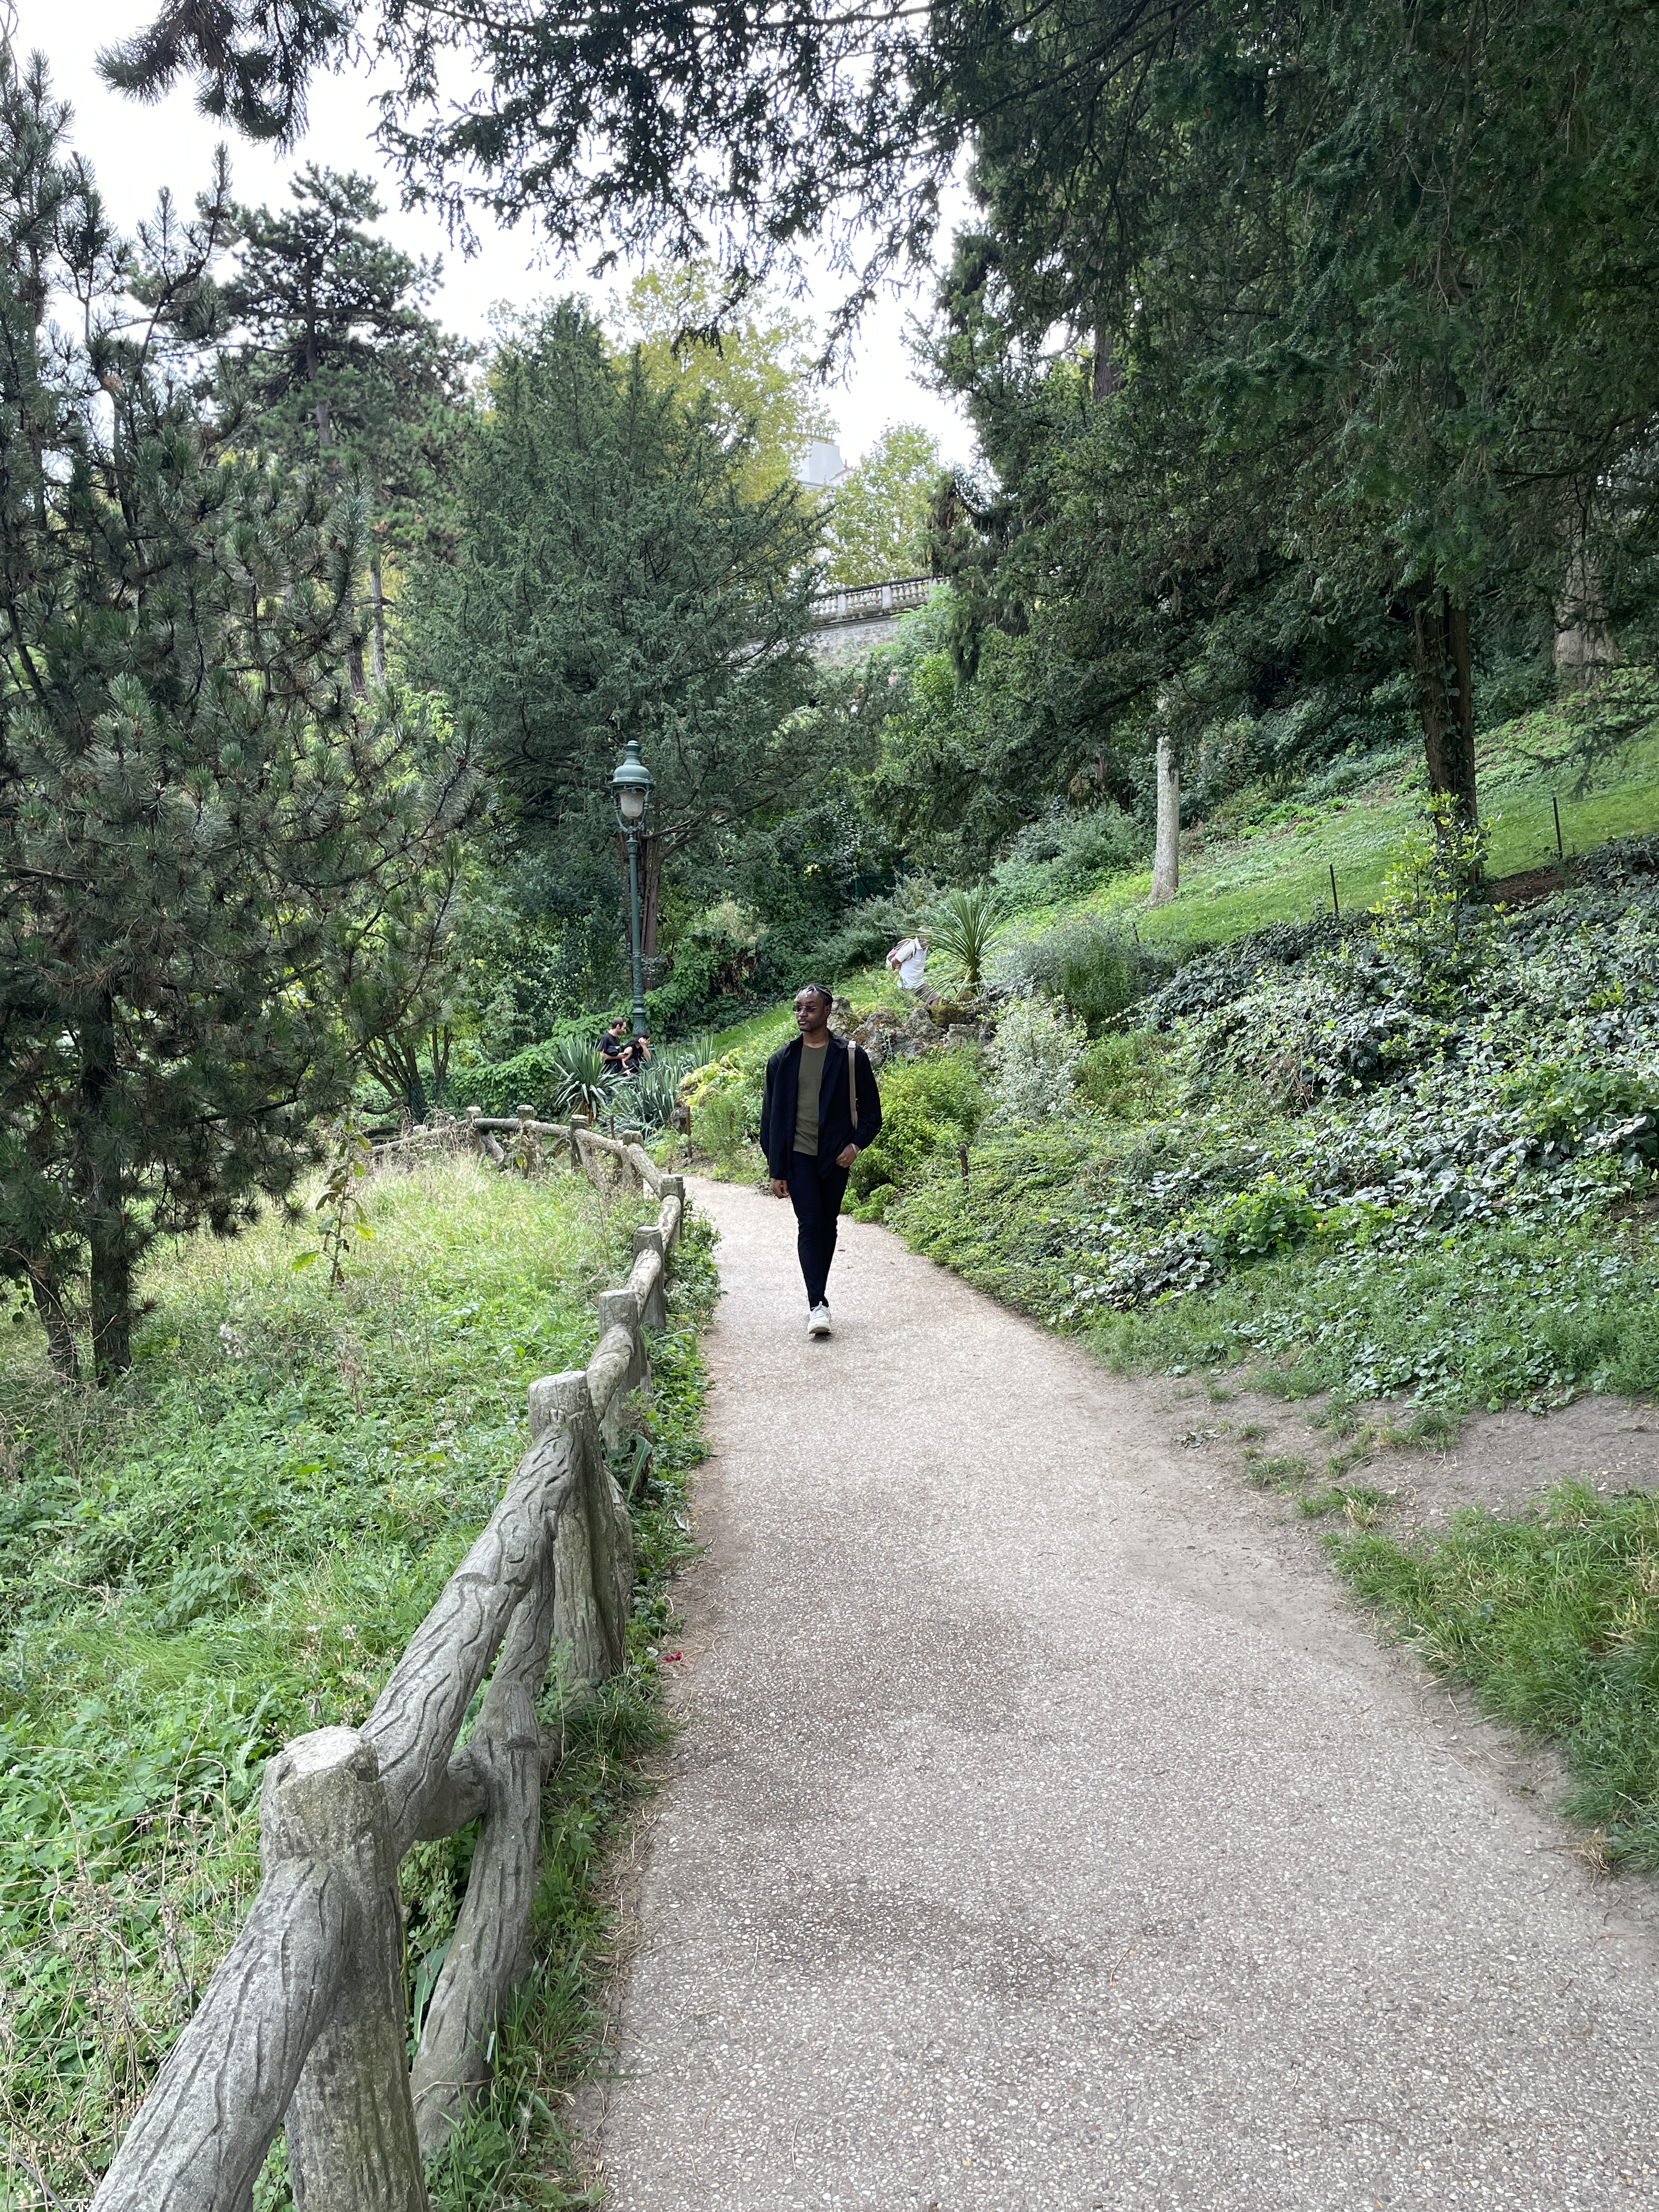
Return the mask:
POLYGON ((761 1148, 772 1194, 794 1203, 807 1336, 827 1336, 836 1221, 847 1172, 880 1130, 880 1095, 865 1048, 830 1035, 830 993, 821 982, 796 991, 794 1026, 801 1035, 765 1064, 761 1148))

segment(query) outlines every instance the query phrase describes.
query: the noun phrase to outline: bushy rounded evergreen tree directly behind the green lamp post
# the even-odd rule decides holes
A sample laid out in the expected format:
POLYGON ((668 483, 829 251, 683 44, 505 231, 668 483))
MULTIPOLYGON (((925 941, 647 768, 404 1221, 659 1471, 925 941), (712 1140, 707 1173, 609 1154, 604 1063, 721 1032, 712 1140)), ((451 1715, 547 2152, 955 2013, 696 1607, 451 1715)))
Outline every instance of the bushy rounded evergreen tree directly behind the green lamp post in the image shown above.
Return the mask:
POLYGON ((816 515, 794 482, 745 495, 703 396, 617 361, 575 303, 491 367, 453 566, 427 564, 411 666, 476 717, 524 845, 577 880, 615 841, 608 779, 639 739, 655 779, 644 929, 664 865, 719 845, 803 774, 781 723, 810 690, 816 515))

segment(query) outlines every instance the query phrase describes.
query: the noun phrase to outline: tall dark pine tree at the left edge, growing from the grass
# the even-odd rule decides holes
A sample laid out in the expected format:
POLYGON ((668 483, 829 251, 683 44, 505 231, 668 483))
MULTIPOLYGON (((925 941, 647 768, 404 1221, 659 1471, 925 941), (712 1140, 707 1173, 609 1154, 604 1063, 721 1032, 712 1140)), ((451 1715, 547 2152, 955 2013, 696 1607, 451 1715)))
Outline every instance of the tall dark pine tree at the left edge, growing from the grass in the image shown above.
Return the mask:
POLYGON ((161 358, 223 175, 128 248, 9 49, 0 146, 0 1267, 69 1371, 88 1285, 108 1378, 148 1245, 292 1190, 354 991, 396 1000, 442 929, 414 909, 469 768, 354 708, 361 502, 250 460, 161 358))

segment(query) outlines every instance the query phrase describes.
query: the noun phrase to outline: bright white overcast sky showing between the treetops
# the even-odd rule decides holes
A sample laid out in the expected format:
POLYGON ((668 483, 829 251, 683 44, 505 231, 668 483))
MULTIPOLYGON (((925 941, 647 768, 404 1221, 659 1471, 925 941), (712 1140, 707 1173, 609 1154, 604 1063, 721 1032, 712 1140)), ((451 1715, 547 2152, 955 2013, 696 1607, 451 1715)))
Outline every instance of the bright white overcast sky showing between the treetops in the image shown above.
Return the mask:
MULTIPOLYGON (((139 106, 111 93, 93 58, 100 46, 128 35, 155 13, 157 0, 13 0, 18 49, 40 49, 51 62, 53 84, 69 100, 73 142, 91 161, 115 221, 131 230, 155 206, 159 188, 173 186, 175 199, 188 208, 208 181, 212 148, 226 139, 237 199, 276 206, 288 199, 288 179, 305 161, 327 168, 367 170, 383 179, 385 219, 378 226, 407 254, 442 254, 445 281, 434 301, 440 321, 467 336, 484 336, 484 319, 498 301, 526 305, 549 292, 591 292, 604 303, 606 292, 626 290, 617 272, 599 285, 584 279, 580 265, 560 270, 535 261, 529 226, 515 230, 480 230, 480 252, 462 261, 449 250, 434 215, 405 212, 398 206, 396 179, 387 173, 372 142, 372 106, 367 73, 321 77, 310 95, 310 131, 288 157, 268 146, 254 146, 226 133, 223 126, 197 115, 188 88, 173 93, 159 106, 139 106)), ((818 290, 823 307, 836 299, 834 279, 818 290)), ((812 303, 805 303, 807 307, 812 303)), ((925 301, 883 299, 869 310, 856 341, 856 358, 845 383, 825 394, 841 425, 843 460, 858 460, 889 422, 922 422, 931 429, 947 460, 967 460, 971 434, 953 400, 945 400, 916 383, 905 352, 905 323, 925 301)))

